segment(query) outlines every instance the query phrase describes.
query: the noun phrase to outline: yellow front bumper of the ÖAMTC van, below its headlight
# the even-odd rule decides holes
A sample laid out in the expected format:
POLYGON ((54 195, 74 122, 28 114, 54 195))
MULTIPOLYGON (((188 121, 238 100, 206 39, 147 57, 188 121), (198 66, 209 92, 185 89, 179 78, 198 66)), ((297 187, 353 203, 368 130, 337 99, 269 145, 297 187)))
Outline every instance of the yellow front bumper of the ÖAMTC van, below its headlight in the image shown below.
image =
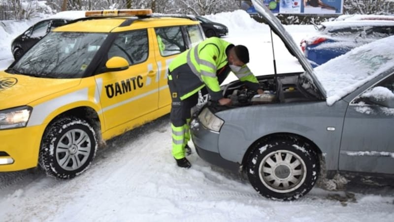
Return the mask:
POLYGON ((43 128, 0 130, 0 172, 36 167, 43 128))

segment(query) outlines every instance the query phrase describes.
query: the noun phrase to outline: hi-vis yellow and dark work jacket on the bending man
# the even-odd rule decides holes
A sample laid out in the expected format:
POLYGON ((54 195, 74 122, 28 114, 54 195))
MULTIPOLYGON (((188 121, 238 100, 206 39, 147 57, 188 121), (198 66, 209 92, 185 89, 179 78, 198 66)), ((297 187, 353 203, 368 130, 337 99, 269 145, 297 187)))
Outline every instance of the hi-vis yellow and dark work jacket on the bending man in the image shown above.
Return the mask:
MULTIPOLYGON (((181 100, 197 93, 205 85, 212 100, 223 98, 220 83, 230 73, 226 55, 226 49, 230 45, 230 42, 221 38, 211 37, 172 60, 168 78, 175 84, 181 100)), ((251 89, 260 88, 259 82, 246 64, 234 74, 251 89)))

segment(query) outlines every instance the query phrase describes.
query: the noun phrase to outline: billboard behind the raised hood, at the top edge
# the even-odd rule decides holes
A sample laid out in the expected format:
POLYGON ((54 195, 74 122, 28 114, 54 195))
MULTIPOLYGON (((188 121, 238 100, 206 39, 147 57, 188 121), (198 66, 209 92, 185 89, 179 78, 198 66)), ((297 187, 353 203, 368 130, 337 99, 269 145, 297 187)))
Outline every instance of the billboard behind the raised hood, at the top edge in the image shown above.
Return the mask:
MULTIPOLYGON (((274 14, 342 14, 344 0, 262 0, 274 14)), ((241 7, 249 14, 256 14, 249 0, 242 0, 241 7)))

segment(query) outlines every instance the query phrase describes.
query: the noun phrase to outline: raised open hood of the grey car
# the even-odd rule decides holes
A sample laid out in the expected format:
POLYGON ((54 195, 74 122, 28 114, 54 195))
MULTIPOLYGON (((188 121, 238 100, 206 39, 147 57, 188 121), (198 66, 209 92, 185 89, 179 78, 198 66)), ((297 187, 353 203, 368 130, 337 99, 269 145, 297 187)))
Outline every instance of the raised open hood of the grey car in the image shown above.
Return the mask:
POLYGON ((321 92, 324 98, 326 98, 325 89, 323 88, 319 80, 316 78, 316 75, 314 74, 314 70, 311 64, 306 59, 305 55, 303 55, 302 52, 298 49, 296 43, 293 40, 293 37, 289 34, 289 32, 286 31, 286 29, 283 27, 280 21, 272 14, 272 12, 263 4, 263 0, 252 0, 252 3, 256 11, 260 14, 260 16, 263 17, 264 21, 269 25, 271 30, 276 35, 279 36, 279 38, 285 44, 286 48, 289 51, 291 51, 291 53, 294 56, 296 56, 299 63, 302 65, 303 69, 305 70, 305 73, 302 75, 308 77, 309 82, 313 84, 315 88, 321 92))

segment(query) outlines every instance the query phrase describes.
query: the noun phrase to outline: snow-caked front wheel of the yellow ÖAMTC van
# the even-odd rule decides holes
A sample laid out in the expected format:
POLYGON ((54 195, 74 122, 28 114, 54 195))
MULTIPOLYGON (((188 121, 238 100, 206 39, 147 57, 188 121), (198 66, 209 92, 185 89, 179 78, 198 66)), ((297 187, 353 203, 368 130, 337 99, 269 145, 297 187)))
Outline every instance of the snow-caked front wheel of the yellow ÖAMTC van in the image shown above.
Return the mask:
POLYGON ((92 163, 98 147, 94 129, 84 119, 61 117, 45 130, 39 164, 46 174, 70 179, 92 163))

